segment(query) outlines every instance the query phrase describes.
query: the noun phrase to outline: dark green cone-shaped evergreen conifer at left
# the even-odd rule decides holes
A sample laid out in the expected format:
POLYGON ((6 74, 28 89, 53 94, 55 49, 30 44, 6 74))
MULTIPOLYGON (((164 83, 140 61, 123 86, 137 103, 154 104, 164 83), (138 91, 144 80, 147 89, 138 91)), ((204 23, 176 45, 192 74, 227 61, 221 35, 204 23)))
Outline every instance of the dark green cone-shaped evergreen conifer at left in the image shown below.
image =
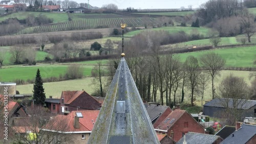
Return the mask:
POLYGON ((43 82, 40 75, 40 70, 37 69, 36 77, 35 77, 35 84, 33 90, 33 99, 35 100, 34 104, 36 105, 44 105, 46 100, 45 89, 42 87, 43 82))

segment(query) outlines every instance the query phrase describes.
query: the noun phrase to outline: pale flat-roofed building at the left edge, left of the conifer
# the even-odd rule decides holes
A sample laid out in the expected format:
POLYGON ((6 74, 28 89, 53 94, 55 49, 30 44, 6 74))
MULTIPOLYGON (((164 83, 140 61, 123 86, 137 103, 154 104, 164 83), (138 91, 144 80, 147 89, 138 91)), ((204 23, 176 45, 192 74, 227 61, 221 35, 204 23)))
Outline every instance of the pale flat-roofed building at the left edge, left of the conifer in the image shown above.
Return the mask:
POLYGON ((16 94, 16 83, 0 82, 0 94, 16 94))

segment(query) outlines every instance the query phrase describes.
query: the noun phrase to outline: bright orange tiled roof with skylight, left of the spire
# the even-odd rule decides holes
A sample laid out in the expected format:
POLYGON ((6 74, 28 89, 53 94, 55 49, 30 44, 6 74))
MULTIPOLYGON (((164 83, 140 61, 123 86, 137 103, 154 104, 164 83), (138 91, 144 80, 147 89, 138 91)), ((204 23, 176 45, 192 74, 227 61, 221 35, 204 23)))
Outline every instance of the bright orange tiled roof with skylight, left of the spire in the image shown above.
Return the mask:
POLYGON ((51 119, 44 130, 91 133, 98 114, 99 110, 80 110, 72 111, 68 115, 57 115, 51 119), (75 116, 79 117, 79 128, 74 127, 75 116))

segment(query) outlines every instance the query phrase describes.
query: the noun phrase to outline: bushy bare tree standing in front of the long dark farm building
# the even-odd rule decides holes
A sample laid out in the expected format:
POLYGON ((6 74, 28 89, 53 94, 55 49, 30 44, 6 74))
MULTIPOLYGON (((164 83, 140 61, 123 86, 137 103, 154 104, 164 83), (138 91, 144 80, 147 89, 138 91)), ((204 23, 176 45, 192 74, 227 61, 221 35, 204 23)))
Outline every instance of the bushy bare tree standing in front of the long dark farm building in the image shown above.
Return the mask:
POLYGON ((244 110, 247 105, 249 88, 243 78, 229 75, 222 80, 219 86, 221 104, 225 108, 223 118, 227 119, 227 125, 233 126, 242 121, 244 110))

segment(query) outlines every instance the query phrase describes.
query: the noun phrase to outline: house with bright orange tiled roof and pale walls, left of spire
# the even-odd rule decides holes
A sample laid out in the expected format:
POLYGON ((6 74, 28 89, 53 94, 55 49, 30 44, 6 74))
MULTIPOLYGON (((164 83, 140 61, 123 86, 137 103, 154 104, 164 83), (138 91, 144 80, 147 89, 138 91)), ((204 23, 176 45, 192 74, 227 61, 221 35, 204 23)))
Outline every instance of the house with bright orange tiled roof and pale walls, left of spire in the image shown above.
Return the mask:
MULTIPOLYGON (((68 115, 57 115, 48 122, 42 131, 52 133, 54 137, 56 136, 56 140, 60 140, 61 143, 70 143, 68 140, 61 140, 61 138, 67 137, 75 143, 88 143, 98 114, 99 110, 80 110, 72 111, 68 115), (55 122, 56 125, 52 122, 55 122), (60 125, 62 125, 61 130, 59 129, 60 125), (58 135, 59 133, 63 136, 58 135)), ((52 141, 52 143, 54 142, 52 141)))

